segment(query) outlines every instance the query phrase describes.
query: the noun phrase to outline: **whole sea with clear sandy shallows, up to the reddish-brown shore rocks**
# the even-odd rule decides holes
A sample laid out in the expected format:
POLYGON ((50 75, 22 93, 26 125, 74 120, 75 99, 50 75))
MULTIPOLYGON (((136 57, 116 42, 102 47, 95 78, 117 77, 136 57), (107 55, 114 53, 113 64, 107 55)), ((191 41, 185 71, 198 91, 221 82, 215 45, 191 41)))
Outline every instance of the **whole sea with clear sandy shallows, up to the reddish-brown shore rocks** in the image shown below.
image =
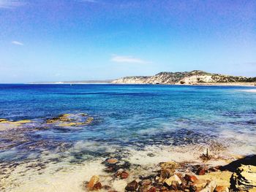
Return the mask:
POLYGON ((108 157, 151 166, 192 161, 206 150, 222 159, 255 154, 255 91, 1 84, 0 191, 83 191, 92 174, 105 174, 108 157))

